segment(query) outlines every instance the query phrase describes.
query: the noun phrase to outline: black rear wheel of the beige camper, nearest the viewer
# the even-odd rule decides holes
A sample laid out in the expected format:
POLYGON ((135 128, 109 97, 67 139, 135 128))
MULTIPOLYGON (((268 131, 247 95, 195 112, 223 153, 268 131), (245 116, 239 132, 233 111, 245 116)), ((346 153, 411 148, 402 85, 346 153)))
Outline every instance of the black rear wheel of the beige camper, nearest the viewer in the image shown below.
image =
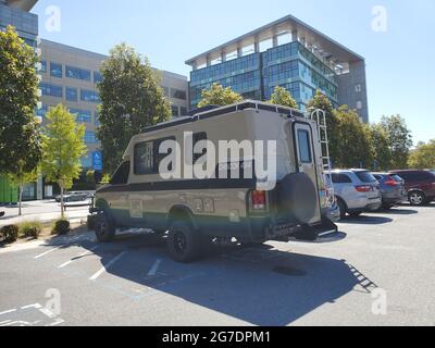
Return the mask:
POLYGON ((167 249, 177 262, 190 262, 199 257, 200 234, 188 222, 177 221, 170 227, 167 249))

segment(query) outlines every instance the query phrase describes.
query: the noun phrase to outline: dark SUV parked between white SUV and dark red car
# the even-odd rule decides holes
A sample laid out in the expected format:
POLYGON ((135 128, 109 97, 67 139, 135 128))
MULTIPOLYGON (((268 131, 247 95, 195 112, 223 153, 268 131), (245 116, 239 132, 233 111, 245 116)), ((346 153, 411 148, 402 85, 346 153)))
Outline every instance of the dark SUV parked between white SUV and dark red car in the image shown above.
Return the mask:
POLYGON ((391 209, 408 199, 405 181, 400 176, 389 173, 373 173, 373 176, 380 183, 383 209, 391 209))

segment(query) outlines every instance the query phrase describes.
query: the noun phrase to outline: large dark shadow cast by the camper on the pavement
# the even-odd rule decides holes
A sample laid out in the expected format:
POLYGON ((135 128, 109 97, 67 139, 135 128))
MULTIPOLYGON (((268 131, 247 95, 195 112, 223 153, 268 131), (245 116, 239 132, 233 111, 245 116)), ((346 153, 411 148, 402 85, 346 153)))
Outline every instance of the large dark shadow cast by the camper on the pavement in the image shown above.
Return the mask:
MULTIPOLYGON (((90 249, 89 241, 78 245, 90 249)), ((279 251, 269 245, 213 247, 207 258, 179 264, 167 257, 163 237, 123 235, 99 245, 95 254, 108 265, 122 251, 128 253, 107 270, 109 274, 253 325, 291 324, 357 285, 366 290, 374 284, 364 283, 366 277, 345 260, 279 251), (154 260, 162 261, 159 273, 144 276, 144 264, 154 260)))

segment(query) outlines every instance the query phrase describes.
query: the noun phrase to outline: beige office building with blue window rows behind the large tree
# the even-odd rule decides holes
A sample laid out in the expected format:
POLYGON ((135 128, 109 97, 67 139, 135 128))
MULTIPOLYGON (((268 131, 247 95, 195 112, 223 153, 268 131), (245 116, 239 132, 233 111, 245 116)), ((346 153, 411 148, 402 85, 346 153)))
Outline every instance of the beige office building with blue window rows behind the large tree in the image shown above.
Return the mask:
MULTIPOLYGON (((96 136, 99 125, 97 107, 100 102, 97 83, 101 79, 100 67, 107 55, 78 48, 41 40, 41 109, 42 117, 50 107, 63 103, 77 115, 77 121, 86 125, 85 141, 88 154, 83 159, 84 169, 99 169, 99 147, 96 136), (98 163, 95 163, 95 159, 98 163)), ((161 72, 162 88, 170 99, 174 117, 187 114, 187 77, 161 72)))

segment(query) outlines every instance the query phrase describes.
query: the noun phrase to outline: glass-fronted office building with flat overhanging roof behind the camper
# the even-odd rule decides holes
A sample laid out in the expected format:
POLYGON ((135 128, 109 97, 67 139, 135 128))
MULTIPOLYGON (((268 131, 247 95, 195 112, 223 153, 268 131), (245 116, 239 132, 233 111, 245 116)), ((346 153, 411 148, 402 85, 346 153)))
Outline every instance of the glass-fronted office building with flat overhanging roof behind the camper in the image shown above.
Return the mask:
POLYGON ((245 98, 268 100, 276 86, 300 108, 322 90, 334 105, 348 104, 369 121, 365 63, 359 54, 288 15, 189 59, 190 107, 213 83, 245 98))

